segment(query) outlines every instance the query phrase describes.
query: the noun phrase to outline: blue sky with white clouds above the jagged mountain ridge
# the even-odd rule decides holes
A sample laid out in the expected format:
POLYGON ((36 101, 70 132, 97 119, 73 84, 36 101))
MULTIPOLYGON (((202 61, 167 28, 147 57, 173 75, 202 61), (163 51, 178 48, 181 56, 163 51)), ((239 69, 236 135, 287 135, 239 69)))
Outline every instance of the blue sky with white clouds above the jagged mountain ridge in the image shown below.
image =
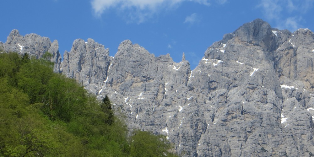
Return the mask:
POLYGON ((314 0, 9 0, 0 6, 0 41, 10 31, 58 40, 70 51, 75 39, 94 39, 116 54, 129 39, 155 56, 182 53, 194 69, 208 46, 260 18, 273 28, 314 31, 314 0))

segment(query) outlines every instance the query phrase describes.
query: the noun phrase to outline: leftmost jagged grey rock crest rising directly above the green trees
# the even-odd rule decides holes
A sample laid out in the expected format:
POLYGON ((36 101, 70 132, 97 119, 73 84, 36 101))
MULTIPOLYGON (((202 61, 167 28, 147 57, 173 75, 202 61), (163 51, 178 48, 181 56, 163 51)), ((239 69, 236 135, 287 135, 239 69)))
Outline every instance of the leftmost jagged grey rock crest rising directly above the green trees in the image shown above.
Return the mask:
POLYGON ((3 44, 6 52, 18 52, 20 54, 29 53, 30 56, 41 58, 45 52, 52 54, 51 62, 55 62, 54 72, 60 72, 61 56, 59 52, 58 41, 51 43, 47 37, 41 37, 37 34, 27 34, 22 36, 18 30, 12 30, 3 44))

